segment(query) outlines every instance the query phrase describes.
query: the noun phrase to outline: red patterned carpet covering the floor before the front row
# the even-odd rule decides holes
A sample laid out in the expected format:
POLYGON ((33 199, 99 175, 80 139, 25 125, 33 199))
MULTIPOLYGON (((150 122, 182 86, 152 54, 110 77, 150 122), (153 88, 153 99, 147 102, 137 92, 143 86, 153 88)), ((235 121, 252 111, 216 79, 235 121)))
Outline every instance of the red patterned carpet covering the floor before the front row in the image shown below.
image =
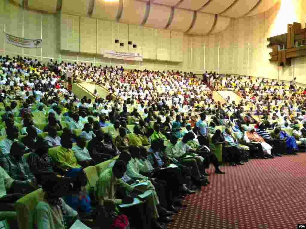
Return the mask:
POLYGON ((306 224, 306 153, 209 169, 211 183, 188 195, 168 229, 294 229, 306 224))

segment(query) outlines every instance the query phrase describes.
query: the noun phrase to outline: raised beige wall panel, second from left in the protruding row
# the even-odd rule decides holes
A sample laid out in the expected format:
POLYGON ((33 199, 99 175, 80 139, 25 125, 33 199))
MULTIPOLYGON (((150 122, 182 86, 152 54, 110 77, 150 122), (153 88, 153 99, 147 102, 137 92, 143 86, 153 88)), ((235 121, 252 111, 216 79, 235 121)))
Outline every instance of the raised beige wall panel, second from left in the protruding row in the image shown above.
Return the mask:
POLYGON ((82 53, 97 53, 97 19, 81 17, 80 51, 82 53))

